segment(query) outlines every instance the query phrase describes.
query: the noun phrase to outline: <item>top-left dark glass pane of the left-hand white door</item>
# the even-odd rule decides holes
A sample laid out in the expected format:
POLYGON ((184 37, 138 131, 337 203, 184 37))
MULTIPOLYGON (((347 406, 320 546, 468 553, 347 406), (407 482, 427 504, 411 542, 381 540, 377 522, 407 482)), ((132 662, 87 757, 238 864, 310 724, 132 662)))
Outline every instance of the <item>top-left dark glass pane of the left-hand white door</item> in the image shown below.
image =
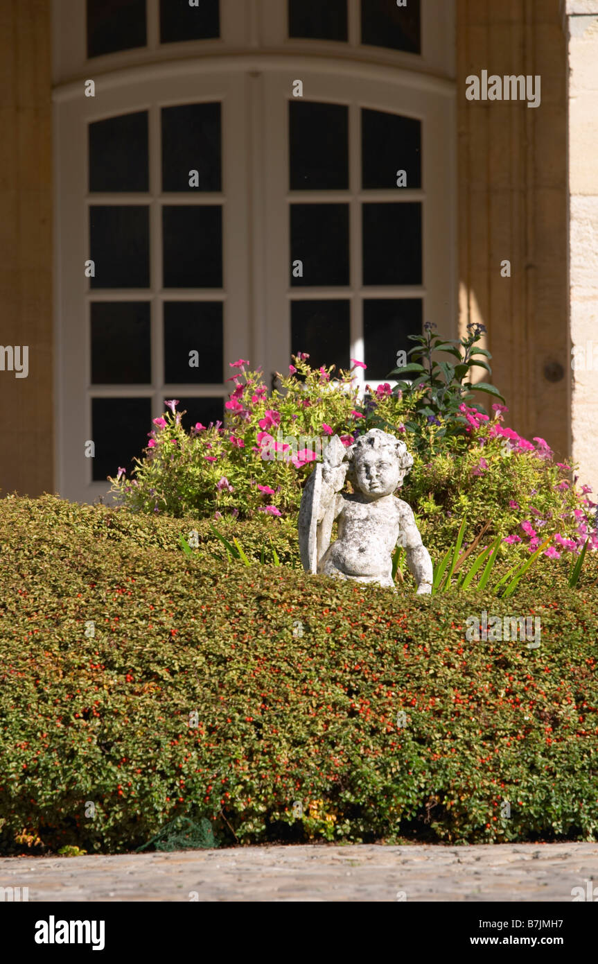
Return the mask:
POLYGON ((90 124, 90 191, 147 191, 147 111, 90 124))

